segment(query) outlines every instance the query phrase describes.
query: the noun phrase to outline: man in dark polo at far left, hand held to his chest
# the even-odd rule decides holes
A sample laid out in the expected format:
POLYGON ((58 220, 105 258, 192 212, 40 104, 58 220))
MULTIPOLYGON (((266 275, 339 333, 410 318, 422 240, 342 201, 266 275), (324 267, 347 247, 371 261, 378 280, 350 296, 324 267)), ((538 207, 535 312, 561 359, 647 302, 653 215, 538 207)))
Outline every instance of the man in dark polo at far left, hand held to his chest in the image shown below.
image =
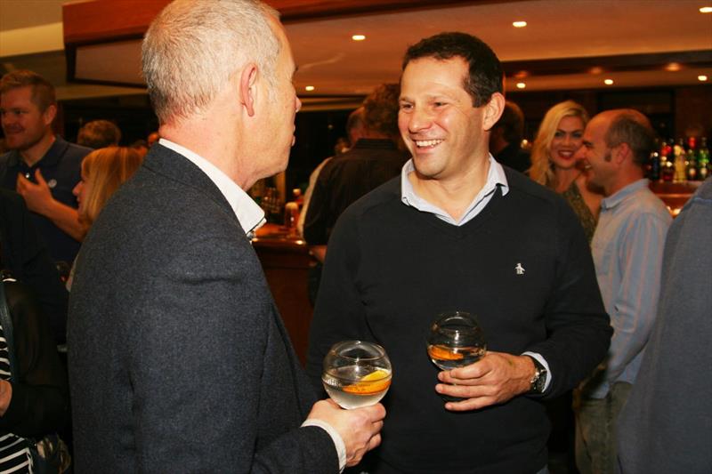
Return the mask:
POLYGON ((17 70, 0 80, 0 116, 11 149, 0 157, 0 186, 25 198, 50 255, 70 263, 85 234, 72 189, 81 180, 81 162, 91 149, 56 136, 56 114, 54 87, 44 77, 17 70))

